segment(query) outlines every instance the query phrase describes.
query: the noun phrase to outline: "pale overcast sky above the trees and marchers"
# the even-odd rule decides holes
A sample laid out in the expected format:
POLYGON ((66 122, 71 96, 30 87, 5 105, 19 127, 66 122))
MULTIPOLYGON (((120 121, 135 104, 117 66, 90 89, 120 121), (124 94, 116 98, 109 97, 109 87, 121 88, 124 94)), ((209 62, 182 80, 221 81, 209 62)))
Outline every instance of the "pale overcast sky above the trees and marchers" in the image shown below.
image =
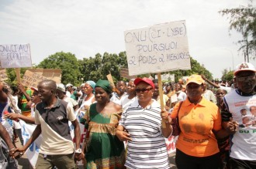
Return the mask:
MULTIPOLYGON (((186 21, 189 52, 214 78, 244 61, 235 44, 240 33, 218 12, 247 0, 1 0, 0 44, 30 44, 32 63, 55 52, 78 59, 125 51, 123 32, 186 21), (233 64, 234 60, 234 64, 233 64)), ((254 4, 255 5, 255 4, 254 4)), ((255 61, 251 63, 256 65, 255 61)))

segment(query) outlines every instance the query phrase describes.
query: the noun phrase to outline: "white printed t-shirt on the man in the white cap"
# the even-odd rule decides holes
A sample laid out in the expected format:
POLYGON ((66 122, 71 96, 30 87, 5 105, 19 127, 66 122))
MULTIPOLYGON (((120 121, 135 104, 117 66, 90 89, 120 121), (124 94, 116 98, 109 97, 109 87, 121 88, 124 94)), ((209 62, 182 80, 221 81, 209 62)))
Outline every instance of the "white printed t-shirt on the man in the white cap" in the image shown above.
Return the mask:
POLYGON ((223 121, 232 117, 239 123, 230 137, 230 157, 256 161, 256 94, 242 96, 238 90, 231 90, 223 100, 227 107, 227 111, 222 110, 223 121))

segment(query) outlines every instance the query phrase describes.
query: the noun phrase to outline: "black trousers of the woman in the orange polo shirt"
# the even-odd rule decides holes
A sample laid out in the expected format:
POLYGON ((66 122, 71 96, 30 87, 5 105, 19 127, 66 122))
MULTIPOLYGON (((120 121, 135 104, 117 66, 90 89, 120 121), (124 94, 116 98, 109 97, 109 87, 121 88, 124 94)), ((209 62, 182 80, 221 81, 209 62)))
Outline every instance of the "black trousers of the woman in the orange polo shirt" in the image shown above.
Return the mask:
POLYGON ((178 169, 219 169, 220 154, 213 154, 208 157, 194 157, 176 149, 175 163, 178 169))

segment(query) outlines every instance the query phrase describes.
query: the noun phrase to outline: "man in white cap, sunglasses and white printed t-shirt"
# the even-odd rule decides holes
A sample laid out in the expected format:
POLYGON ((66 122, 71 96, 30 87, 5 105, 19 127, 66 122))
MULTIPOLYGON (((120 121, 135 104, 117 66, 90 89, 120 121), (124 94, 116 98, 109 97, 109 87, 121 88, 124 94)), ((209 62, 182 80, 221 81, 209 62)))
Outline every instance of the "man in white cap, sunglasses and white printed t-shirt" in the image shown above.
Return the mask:
POLYGON ((224 96, 221 110, 223 127, 234 130, 230 137, 230 167, 256 168, 256 118, 250 107, 256 106, 255 68, 251 63, 240 63, 234 70, 236 90, 224 96), (247 113, 241 114, 245 109, 247 113), (239 127, 244 117, 250 117, 247 127, 239 127))

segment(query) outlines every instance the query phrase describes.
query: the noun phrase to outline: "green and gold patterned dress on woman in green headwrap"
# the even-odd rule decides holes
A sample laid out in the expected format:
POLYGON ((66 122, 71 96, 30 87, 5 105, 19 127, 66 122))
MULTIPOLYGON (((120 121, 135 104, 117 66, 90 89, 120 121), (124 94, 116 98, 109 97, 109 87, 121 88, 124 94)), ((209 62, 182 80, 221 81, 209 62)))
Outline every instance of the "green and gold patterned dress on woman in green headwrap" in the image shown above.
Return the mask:
MULTIPOLYGON (((98 113, 96 103, 88 113, 88 138, 86 138, 85 168, 125 168, 123 141, 116 137, 120 113, 98 113)), ((86 123, 85 123, 86 126, 86 123)))

